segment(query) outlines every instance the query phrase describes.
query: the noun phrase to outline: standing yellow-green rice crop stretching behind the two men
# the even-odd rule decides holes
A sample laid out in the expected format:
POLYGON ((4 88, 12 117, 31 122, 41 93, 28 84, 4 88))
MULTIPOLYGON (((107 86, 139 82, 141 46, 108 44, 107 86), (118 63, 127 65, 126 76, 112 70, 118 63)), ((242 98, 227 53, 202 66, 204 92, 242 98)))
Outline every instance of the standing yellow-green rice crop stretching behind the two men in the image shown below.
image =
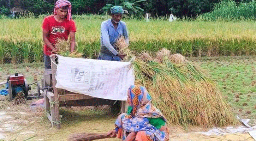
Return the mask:
MULTIPOLYGON (((74 16, 76 22, 77 51, 85 58, 96 59, 100 50, 100 25, 109 16, 74 16)), ((40 18, 0 19, 0 42, 2 47, 20 45, 16 60, 24 59, 23 48, 31 45, 29 62, 42 61, 42 21, 40 18)), ((129 48, 137 53, 148 51, 155 53, 162 48, 172 54, 184 56, 236 56, 256 55, 255 22, 206 22, 178 20, 168 22, 163 19, 145 22, 136 19, 124 19, 129 31, 129 48), (237 28, 240 27, 240 28, 237 28)), ((10 49, 5 49, 4 58, 12 58, 10 49)), ((14 57, 13 57, 14 58, 14 57)), ((4 59, 5 62, 6 59, 4 59)), ((24 62, 20 60, 19 62, 24 62)))

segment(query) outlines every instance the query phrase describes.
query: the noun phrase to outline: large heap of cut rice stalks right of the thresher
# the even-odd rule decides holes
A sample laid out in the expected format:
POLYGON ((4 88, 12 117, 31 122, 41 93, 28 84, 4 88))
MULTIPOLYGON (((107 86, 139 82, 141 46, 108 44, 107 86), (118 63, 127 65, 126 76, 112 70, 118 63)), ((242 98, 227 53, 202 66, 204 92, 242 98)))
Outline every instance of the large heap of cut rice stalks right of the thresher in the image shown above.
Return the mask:
MULTIPOLYGON (((126 46, 124 49, 118 47, 121 53, 127 54, 124 61, 134 57, 126 46)), ((143 53, 132 64, 135 83, 147 88, 153 104, 163 112, 169 123, 201 127, 237 123, 230 105, 222 98, 215 83, 184 56, 171 55, 169 50, 162 49, 155 57, 143 53)))

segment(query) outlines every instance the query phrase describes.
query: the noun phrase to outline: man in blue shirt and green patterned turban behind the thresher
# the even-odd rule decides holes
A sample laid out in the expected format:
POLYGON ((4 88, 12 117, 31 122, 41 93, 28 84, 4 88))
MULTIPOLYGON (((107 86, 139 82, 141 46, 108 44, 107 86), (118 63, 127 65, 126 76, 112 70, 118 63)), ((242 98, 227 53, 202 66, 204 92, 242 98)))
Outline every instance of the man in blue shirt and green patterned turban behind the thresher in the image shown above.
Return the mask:
POLYGON ((129 44, 129 36, 126 23, 121 21, 124 10, 121 6, 113 6, 111 10, 111 19, 101 23, 101 49, 99 60, 121 61, 126 54, 121 54, 114 47, 114 43, 121 36, 124 36, 125 42, 129 44))

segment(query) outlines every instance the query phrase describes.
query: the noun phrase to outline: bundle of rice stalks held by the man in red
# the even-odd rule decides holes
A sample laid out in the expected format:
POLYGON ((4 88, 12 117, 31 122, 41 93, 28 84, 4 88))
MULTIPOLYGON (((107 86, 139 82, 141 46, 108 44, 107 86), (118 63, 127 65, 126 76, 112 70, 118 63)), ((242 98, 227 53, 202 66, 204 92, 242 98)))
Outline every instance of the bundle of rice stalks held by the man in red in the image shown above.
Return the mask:
POLYGON ((57 39, 55 49, 56 51, 54 53, 61 56, 81 58, 83 55, 82 53, 78 53, 77 50, 70 53, 70 41, 65 41, 64 39, 57 39))

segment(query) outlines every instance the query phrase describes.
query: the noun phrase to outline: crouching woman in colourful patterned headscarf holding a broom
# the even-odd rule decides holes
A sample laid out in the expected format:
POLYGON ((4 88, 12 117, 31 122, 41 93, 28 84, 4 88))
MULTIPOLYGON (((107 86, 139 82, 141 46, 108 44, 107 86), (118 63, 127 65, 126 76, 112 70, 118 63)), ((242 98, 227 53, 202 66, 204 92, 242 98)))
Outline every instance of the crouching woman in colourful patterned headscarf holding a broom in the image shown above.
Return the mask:
POLYGON ((131 85, 127 92, 127 114, 118 116, 114 130, 108 135, 122 141, 168 141, 166 118, 151 104, 151 97, 143 86, 131 85))

